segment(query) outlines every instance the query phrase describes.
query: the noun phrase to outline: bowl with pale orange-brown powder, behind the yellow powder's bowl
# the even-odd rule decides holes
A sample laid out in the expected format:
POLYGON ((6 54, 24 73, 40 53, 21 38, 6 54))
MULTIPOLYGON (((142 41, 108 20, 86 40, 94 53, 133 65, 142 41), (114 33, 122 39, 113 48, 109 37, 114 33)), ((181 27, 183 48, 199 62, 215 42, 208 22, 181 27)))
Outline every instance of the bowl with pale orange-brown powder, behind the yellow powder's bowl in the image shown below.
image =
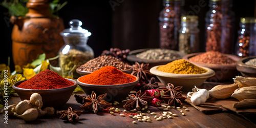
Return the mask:
POLYGON ((209 82, 232 81, 232 78, 238 75, 236 65, 240 58, 236 55, 210 51, 188 54, 183 59, 214 70, 215 75, 207 79, 209 82))

